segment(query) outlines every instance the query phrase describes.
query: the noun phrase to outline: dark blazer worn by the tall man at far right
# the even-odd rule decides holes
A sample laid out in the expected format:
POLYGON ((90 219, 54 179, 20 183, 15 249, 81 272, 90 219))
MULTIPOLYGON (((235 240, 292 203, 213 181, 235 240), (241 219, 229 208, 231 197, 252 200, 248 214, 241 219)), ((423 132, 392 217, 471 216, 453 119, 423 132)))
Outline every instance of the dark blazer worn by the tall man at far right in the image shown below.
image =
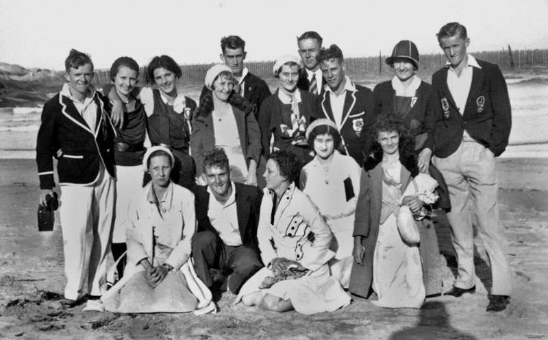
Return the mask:
POLYGON ((432 75, 434 88, 434 154, 446 158, 455 152, 464 130, 495 156, 508 145, 512 109, 508 88, 499 66, 477 60, 464 114, 460 114, 447 86, 447 67, 432 75))

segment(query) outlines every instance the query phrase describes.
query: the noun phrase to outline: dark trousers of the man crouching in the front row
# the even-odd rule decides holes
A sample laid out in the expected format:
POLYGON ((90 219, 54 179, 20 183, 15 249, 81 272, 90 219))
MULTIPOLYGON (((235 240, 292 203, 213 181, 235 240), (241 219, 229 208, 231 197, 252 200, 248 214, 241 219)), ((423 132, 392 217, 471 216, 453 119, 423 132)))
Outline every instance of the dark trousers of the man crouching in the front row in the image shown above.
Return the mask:
POLYGON ((197 232, 192 237, 192 257, 198 277, 212 287, 210 269, 221 269, 228 278, 228 289, 237 294, 242 284, 263 267, 259 252, 254 247, 225 245, 211 231, 197 232))

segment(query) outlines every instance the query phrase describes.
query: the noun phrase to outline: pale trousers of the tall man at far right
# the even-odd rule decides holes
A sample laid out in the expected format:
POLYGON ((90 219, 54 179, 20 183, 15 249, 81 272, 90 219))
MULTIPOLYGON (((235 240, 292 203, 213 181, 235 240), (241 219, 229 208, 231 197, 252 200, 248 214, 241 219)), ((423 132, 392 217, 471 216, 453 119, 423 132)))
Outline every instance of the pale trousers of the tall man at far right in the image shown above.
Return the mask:
POLYGON ((457 255, 455 287, 470 289, 475 284, 472 204, 477 216, 477 234, 488 255, 493 276, 493 295, 510 295, 512 269, 508 263, 504 227, 499 218, 499 184, 495 156, 483 145, 464 138, 457 151, 447 158, 432 158, 449 188, 453 247, 457 255))

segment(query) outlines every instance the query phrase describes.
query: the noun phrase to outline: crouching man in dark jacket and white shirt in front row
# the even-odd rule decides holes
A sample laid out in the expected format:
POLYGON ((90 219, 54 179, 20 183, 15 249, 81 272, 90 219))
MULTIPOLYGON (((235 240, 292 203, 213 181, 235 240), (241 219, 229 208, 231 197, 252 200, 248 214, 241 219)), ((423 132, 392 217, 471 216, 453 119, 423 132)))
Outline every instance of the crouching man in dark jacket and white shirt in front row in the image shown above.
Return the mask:
POLYGON ((223 149, 203 158, 208 186, 195 188, 197 233, 192 257, 197 274, 213 289, 238 293, 242 284, 263 267, 257 241, 262 191, 230 180, 223 149))

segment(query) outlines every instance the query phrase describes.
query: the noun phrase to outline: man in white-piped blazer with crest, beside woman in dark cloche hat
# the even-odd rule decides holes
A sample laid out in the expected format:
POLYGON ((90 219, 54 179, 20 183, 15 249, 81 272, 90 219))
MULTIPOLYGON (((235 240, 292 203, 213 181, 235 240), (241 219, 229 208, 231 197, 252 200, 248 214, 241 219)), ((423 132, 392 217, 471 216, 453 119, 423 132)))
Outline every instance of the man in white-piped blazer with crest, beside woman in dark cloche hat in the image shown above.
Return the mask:
POLYGON ((327 81, 320 99, 323 116, 338 126, 341 151, 354 158, 361 167, 371 145, 369 128, 375 119, 373 91, 354 84, 345 75, 343 51, 337 45, 322 49, 316 59, 327 81))

